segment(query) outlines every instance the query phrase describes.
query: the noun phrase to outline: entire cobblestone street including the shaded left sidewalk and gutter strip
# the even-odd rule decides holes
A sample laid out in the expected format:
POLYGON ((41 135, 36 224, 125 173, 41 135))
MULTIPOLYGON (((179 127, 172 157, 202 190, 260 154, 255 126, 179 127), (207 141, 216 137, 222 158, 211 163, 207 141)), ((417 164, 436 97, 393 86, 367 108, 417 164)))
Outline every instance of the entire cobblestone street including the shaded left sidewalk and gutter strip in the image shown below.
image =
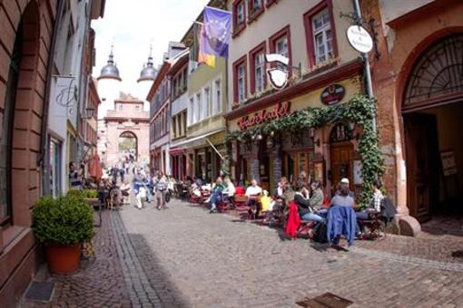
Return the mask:
MULTIPOLYGON (((388 236, 341 252, 284 240, 230 215, 169 205, 104 212, 95 260, 78 274, 54 277, 53 306, 293 307, 331 292, 353 307, 463 307, 463 263, 432 258, 432 240, 388 236)), ((448 250, 461 243, 456 238, 448 250)))

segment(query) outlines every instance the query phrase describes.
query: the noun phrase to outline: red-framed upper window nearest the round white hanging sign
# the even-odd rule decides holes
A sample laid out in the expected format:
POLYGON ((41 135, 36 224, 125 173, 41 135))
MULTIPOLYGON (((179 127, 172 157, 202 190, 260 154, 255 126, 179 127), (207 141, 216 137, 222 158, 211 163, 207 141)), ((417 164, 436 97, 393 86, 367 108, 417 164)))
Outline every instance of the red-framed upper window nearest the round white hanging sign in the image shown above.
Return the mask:
POLYGON ((324 0, 304 14, 304 26, 309 66, 336 57, 338 48, 331 1, 324 0))

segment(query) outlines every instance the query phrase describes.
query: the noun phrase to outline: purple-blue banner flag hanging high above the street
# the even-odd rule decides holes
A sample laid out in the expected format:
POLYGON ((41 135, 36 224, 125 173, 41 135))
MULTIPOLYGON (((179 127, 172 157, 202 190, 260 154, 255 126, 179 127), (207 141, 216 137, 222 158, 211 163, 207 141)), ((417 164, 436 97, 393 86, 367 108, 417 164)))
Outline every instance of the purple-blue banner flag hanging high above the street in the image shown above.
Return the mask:
POLYGON ((206 6, 203 16, 201 53, 227 58, 232 32, 232 13, 206 6))

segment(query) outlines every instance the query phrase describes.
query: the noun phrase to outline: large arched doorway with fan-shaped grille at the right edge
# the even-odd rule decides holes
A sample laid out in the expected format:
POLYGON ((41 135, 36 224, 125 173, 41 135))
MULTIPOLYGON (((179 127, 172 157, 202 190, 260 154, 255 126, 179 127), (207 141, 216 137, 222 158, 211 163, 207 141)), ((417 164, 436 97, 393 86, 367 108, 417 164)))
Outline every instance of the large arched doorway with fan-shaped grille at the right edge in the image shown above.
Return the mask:
POLYGON ((463 34, 433 43, 409 74, 402 101, 410 214, 463 217, 463 34))

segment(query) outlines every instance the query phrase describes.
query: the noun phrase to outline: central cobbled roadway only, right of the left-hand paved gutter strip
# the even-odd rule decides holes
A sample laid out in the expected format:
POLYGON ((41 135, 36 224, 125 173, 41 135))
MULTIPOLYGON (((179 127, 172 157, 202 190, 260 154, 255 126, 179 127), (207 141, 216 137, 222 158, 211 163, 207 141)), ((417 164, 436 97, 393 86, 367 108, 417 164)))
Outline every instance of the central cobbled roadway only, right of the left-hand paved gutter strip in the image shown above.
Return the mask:
POLYGON ((163 306, 293 307, 331 292, 353 307, 463 307, 458 262, 360 243, 341 252, 178 201, 170 206, 114 217, 163 306))

